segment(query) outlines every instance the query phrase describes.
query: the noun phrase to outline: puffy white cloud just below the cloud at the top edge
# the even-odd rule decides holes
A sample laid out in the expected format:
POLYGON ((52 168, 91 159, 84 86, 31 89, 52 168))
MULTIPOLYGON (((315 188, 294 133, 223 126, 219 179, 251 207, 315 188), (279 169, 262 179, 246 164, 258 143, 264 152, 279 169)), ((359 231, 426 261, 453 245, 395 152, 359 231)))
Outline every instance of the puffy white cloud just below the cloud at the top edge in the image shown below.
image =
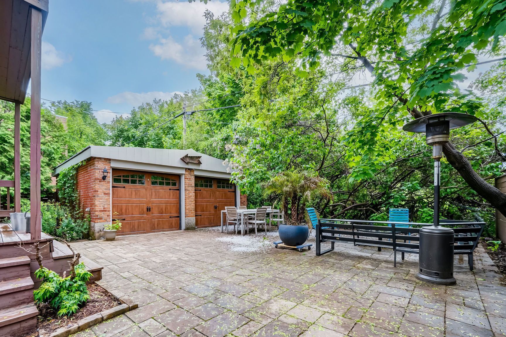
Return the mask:
POLYGON ((176 42, 172 36, 160 38, 158 43, 151 44, 149 49, 162 60, 173 60, 188 68, 204 70, 207 65, 205 51, 200 41, 192 35, 186 35, 182 43, 176 42))

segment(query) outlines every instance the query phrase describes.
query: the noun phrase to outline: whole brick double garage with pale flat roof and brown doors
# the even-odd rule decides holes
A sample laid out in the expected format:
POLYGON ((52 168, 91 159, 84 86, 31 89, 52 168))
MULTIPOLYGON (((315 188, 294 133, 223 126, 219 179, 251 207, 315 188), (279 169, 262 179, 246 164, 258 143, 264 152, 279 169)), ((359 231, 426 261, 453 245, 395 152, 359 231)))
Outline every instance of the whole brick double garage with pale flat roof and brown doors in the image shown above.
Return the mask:
POLYGON ((118 234, 216 226, 225 206, 247 204, 222 160, 191 149, 92 146, 56 167, 54 175, 77 163, 83 163, 77 190, 92 238, 102 237, 112 219, 123 223, 118 234))

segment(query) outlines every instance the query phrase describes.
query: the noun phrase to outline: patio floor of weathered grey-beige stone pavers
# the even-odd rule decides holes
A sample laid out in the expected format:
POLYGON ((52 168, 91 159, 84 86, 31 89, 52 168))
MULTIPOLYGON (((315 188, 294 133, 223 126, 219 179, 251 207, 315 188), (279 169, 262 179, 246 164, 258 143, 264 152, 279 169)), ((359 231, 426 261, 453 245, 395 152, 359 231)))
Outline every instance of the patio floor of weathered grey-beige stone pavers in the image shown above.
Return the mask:
POLYGON ((194 230, 73 244, 104 266, 99 284, 139 303, 74 336, 506 335, 506 287, 481 248, 475 272, 466 257, 455 258, 457 285, 446 287, 415 279, 415 255, 394 268, 391 250, 347 244, 320 257, 274 247, 234 252, 217 240, 227 235, 194 230))

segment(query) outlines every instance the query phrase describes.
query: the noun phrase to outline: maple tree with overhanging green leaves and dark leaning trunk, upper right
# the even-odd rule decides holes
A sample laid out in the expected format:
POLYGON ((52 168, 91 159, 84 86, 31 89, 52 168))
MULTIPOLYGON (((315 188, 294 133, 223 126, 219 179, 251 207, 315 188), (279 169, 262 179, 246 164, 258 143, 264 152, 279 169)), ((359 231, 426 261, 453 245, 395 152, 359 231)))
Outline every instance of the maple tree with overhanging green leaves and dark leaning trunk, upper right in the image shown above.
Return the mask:
MULTIPOLYGON (((372 118, 362 119, 369 130, 380 114, 379 124, 388 129, 404 123, 403 114, 418 118, 458 111, 482 117, 480 100, 462 93, 456 82, 465 78, 463 69, 475 67, 477 56, 496 53, 506 32, 500 0, 450 1, 448 6, 445 0, 290 0, 281 5, 240 0, 232 1, 231 9, 236 23, 231 64, 242 62, 250 74, 265 61, 292 59, 300 60, 301 76, 334 59, 348 77, 357 69, 370 72, 376 109, 372 118)), ((367 142, 376 138, 361 137, 359 147, 370 148, 367 142)), ((443 151, 462 179, 506 214, 506 195, 477 174, 453 143, 443 151)))

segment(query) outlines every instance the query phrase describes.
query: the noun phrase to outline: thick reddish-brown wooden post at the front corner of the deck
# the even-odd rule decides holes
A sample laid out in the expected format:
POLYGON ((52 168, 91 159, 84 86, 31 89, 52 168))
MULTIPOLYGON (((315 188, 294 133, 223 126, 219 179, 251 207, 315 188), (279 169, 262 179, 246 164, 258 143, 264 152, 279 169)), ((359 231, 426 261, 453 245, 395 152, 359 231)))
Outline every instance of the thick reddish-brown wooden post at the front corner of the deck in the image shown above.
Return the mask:
POLYGON ((40 219, 40 46, 42 43, 42 13, 31 7, 30 49, 30 213, 31 239, 39 240, 40 219))

